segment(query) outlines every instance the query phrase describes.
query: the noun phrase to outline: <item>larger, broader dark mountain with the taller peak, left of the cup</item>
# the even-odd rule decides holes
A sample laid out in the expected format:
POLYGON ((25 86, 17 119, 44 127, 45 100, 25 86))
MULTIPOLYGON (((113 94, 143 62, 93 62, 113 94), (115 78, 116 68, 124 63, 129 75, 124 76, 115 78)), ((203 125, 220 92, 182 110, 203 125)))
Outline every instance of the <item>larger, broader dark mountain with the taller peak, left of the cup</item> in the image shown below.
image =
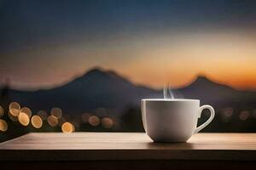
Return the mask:
POLYGON ((58 87, 35 92, 9 90, 9 98, 35 110, 58 106, 67 112, 93 111, 97 107, 122 111, 140 105, 140 99, 157 96, 159 91, 137 86, 114 71, 94 68, 82 77, 58 87))

